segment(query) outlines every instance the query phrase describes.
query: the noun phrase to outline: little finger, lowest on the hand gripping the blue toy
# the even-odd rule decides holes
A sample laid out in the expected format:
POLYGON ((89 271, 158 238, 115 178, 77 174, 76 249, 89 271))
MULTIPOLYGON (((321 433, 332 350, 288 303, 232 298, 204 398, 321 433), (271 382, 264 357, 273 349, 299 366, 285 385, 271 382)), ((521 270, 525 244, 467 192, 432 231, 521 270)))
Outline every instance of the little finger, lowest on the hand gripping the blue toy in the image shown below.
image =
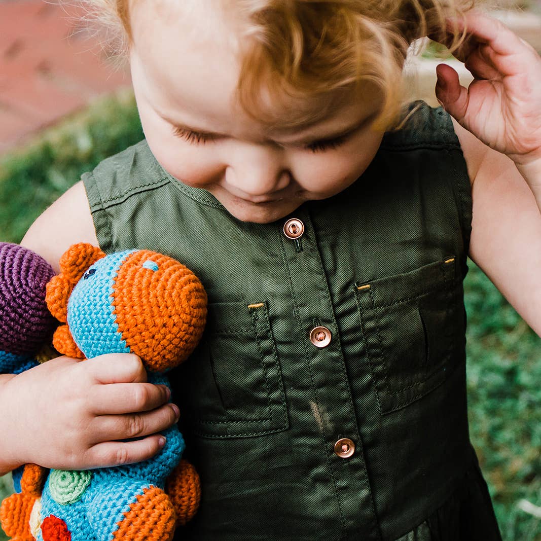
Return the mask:
POLYGON ((153 457, 165 444, 165 438, 154 434, 136 441, 105 441, 91 447, 85 456, 85 469, 122 466, 153 457), (160 440, 163 443, 160 443, 160 440))

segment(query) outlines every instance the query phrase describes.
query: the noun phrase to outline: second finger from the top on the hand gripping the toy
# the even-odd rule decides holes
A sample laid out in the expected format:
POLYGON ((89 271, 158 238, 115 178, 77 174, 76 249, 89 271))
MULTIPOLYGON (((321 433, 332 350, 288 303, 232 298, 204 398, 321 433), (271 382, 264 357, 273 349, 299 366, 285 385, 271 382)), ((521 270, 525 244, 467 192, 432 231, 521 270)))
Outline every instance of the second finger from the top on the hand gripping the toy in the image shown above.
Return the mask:
POLYGON ((167 404, 171 391, 166 385, 114 383, 94 385, 89 395, 89 411, 111 415, 151 411, 167 404))

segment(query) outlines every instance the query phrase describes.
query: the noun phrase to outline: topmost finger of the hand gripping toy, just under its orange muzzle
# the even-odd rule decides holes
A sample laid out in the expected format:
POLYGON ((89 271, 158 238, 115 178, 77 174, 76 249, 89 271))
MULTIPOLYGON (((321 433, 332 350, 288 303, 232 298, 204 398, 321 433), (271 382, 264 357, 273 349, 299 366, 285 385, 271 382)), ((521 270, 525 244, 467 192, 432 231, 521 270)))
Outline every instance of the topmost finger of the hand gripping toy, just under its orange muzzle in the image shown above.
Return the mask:
POLYGON ((147 372, 137 355, 131 353, 110 353, 84 362, 96 383, 146 382, 147 372))

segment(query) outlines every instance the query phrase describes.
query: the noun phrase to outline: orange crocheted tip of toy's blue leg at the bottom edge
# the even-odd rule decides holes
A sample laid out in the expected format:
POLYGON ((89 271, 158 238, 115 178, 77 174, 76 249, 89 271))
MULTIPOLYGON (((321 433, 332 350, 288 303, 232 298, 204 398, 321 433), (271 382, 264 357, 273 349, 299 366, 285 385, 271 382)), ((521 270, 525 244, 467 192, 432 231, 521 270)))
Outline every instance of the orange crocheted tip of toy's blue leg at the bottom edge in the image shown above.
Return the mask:
POLYGON ((113 539, 119 541, 170 541, 175 533, 175 510, 168 496, 156 486, 143 490, 124 513, 113 539))

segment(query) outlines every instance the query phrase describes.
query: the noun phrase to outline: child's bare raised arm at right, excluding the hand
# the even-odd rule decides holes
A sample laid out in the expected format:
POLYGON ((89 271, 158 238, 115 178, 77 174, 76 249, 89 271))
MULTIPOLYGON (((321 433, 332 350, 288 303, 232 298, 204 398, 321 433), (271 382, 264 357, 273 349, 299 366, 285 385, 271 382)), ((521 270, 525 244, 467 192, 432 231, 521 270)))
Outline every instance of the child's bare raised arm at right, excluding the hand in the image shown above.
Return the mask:
MULTIPOLYGON (((513 161, 455 127, 471 164, 470 257, 541 336, 541 212, 513 161)), ((470 168, 469 167, 469 168, 470 168)))

